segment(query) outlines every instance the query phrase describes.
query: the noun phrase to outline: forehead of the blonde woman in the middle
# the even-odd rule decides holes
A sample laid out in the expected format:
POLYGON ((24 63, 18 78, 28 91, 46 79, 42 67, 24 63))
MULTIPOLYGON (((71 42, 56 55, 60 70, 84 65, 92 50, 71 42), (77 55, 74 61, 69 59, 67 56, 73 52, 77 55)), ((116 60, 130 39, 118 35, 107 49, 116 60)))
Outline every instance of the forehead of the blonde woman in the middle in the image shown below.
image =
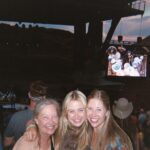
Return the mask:
POLYGON ((84 104, 80 100, 71 100, 67 105, 67 109, 74 109, 76 107, 84 107, 84 104))

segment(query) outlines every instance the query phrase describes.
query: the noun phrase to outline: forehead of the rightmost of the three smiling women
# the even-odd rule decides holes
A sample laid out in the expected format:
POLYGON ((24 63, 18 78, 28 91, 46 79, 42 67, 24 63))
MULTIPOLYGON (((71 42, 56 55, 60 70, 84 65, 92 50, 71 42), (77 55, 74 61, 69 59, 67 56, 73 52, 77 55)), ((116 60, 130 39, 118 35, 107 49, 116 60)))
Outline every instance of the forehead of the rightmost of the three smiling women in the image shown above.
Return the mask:
POLYGON ((104 104, 101 99, 92 98, 88 101, 88 107, 104 107, 104 104))

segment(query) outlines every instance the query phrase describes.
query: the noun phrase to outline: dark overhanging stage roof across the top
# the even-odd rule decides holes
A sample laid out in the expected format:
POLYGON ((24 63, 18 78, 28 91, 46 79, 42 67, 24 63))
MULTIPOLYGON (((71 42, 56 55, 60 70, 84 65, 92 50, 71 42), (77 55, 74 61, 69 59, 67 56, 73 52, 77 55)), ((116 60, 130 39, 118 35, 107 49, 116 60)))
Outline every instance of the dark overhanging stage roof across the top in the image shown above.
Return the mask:
POLYGON ((75 25, 143 14, 139 6, 137 0, 1 0, 0 20, 75 25))

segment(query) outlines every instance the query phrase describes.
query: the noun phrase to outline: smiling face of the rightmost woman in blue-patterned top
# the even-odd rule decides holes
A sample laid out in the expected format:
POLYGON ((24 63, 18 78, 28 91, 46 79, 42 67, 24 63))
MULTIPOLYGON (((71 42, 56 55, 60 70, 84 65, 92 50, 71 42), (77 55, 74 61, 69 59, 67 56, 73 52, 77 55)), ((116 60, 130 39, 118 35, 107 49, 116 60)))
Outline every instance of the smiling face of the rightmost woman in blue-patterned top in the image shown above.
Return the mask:
POLYGON ((103 102, 97 98, 91 98, 87 104, 87 119, 91 126, 96 129, 100 127, 107 115, 103 102))

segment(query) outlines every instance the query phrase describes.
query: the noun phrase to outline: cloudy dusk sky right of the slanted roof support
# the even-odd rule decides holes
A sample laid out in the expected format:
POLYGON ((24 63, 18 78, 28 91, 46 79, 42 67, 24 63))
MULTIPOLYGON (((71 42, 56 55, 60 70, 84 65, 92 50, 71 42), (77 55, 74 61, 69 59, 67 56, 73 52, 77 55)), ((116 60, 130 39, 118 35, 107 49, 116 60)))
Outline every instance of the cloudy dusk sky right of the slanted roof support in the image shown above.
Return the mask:
MULTIPOLYGON (((106 23, 108 26, 108 23, 106 23)), ((146 8, 143 17, 141 15, 123 18, 118 25, 115 35, 122 34, 124 40, 136 40, 138 36, 147 37, 150 35, 150 0, 146 0, 146 8), (121 33, 120 33, 121 32, 121 33)))

